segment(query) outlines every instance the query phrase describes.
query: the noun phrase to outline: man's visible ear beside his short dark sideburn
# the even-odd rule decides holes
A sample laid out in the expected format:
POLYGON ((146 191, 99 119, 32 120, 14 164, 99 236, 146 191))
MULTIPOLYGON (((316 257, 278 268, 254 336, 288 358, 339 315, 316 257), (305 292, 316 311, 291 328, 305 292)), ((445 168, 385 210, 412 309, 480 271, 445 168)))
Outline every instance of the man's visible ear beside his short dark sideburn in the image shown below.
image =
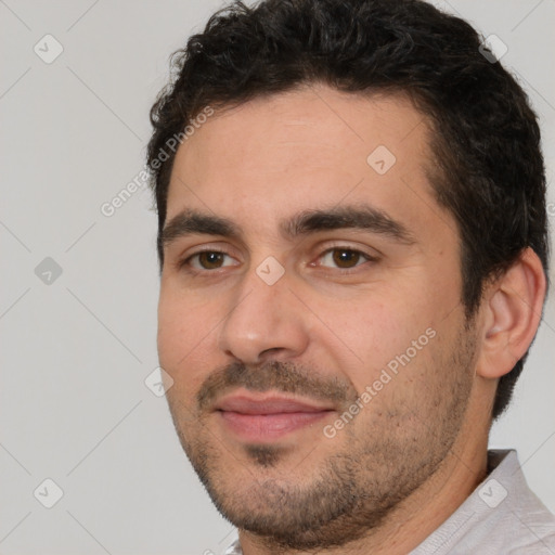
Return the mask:
POLYGON ((530 247, 487 288, 478 375, 499 378, 522 358, 540 325, 545 289, 542 262, 530 247))

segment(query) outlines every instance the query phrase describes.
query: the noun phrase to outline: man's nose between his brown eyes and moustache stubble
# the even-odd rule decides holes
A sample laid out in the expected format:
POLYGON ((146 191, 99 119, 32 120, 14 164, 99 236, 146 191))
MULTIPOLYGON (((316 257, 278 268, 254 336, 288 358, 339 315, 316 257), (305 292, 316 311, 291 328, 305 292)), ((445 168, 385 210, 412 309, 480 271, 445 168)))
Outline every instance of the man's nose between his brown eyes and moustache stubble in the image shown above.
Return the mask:
POLYGON ((291 360, 305 352, 308 314, 289 285, 287 273, 268 285, 250 270, 227 307, 218 338, 221 351, 251 365, 268 359, 291 360))

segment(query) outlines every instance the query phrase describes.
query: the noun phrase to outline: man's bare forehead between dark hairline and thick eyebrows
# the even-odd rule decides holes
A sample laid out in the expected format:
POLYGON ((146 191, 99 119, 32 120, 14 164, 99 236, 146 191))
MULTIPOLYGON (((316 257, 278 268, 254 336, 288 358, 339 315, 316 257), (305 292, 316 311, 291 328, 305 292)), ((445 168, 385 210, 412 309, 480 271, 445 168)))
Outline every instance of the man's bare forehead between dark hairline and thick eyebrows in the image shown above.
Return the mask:
POLYGON ((256 99, 217 112, 180 146, 167 220, 192 207, 262 227, 344 201, 388 212, 414 208, 415 194, 429 204, 429 137, 402 95, 307 87, 256 99))

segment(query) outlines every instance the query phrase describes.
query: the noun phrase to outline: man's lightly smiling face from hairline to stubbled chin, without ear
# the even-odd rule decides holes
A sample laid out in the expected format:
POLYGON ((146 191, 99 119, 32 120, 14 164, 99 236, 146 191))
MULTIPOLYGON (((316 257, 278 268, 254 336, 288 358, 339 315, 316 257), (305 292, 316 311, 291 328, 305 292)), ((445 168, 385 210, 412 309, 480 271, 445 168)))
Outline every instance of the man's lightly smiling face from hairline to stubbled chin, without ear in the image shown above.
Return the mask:
POLYGON ((475 333, 430 159, 408 101, 327 88, 216 114, 178 151, 160 365, 183 448, 240 528, 341 544, 461 441, 475 333))

